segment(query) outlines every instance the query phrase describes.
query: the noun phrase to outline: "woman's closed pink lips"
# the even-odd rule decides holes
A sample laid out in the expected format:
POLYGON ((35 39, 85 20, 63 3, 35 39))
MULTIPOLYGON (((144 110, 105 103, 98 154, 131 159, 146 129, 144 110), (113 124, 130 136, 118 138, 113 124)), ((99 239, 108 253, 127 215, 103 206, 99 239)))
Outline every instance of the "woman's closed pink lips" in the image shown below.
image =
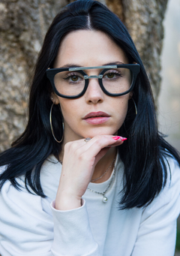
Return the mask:
POLYGON ((110 115, 105 112, 91 112, 83 118, 86 122, 91 125, 101 125, 110 119, 110 115))

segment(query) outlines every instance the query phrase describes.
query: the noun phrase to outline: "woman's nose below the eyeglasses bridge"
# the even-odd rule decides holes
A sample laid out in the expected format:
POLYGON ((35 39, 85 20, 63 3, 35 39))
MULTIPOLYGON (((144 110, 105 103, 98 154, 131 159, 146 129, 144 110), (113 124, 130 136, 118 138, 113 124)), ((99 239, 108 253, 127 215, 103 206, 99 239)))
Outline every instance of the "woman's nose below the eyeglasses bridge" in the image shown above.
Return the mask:
POLYGON ((86 90, 85 98, 88 104, 98 104, 104 101, 104 92, 97 78, 89 79, 89 86, 86 90))

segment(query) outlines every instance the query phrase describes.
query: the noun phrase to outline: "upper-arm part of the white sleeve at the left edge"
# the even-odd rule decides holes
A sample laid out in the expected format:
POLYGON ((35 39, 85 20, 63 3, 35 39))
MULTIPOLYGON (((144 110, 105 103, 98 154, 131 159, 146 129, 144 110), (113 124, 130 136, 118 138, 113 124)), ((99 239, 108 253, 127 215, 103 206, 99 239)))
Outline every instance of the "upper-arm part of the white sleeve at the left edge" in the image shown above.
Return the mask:
MULTIPOLYGON (((22 182, 23 184, 23 182, 22 182)), ((43 198, 18 191, 9 181, 0 193, 0 253, 2 256, 52 256, 52 216, 43 211, 43 198)))

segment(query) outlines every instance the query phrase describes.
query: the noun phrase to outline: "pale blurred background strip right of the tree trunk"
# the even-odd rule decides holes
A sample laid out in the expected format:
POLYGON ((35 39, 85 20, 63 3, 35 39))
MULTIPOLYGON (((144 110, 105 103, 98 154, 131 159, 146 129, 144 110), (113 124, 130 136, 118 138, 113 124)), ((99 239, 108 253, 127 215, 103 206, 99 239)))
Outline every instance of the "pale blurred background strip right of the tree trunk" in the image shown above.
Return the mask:
POLYGON ((169 0, 163 25, 158 121, 166 140, 180 152, 180 0, 169 0))

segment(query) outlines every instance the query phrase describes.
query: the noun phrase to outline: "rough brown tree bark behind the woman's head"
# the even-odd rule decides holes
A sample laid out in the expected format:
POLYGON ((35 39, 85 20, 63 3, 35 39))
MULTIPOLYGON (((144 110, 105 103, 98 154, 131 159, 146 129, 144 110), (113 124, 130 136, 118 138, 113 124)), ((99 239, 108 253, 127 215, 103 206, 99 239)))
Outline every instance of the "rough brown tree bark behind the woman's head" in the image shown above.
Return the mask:
MULTIPOLYGON (((71 0, 0 0, 0 151, 26 126, 28 81, 53 17, 71 0)), ((154 100, 160 91, 160 53, 167 0, 100 0, 127 26, 148 71, 154 100)))

